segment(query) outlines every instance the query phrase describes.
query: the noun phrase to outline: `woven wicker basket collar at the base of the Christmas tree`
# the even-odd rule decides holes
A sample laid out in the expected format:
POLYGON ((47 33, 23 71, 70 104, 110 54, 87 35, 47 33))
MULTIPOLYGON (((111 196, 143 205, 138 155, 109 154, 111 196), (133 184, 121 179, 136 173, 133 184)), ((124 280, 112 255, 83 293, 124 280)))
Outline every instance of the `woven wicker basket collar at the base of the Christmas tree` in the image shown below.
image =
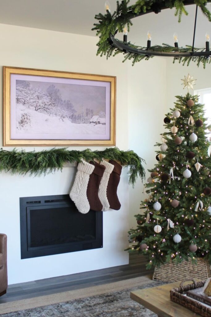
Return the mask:
POLYGON ((152 279, 166 282, 176 282, 183 280, 192 280, 198 278, 206 280, 211 277, 210 264, 204 258, 196 258, 197 265, 193 264, 191 259, 181 263, 173 263, 172 261, 166 264, 155 267, 152 279))

